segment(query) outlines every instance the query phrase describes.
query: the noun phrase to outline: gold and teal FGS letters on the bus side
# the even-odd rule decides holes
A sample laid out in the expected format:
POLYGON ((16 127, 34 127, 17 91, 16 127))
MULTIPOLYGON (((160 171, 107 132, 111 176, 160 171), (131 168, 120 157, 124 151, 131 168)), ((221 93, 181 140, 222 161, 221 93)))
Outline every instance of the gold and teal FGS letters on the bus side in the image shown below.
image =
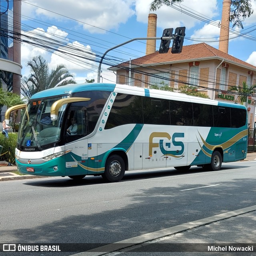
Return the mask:
POLYGON ((172 137, 167 132, 152 132, 149 136, 149 152, 148 155, 152 156, 153 148, 160 148, 161 152, 167 156, 181 156, 184 153, 184 143, 182 141, 176 140, 177 138, 184 138, 184 132, 174 132, 172 137), (168 150, 171 148, 171 142, 166 142, 164 145, 164 140, 159 140, 159 143, 153 143, 154 138, 167 138, 169 141, 172 139, 172 144, 178 147, 175 150, 168 150))

